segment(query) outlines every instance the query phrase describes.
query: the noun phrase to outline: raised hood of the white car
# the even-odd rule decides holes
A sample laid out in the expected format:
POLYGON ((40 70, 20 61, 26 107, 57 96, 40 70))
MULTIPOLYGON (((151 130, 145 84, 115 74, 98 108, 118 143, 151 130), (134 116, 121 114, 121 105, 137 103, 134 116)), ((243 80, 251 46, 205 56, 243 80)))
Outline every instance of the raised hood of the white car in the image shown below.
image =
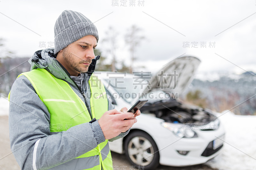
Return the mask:
POLYGON ((201 61, 192 56, 179 57, 164 65, 148 82, 142 93, 161 90, 182 93, 193 80, 201 61))

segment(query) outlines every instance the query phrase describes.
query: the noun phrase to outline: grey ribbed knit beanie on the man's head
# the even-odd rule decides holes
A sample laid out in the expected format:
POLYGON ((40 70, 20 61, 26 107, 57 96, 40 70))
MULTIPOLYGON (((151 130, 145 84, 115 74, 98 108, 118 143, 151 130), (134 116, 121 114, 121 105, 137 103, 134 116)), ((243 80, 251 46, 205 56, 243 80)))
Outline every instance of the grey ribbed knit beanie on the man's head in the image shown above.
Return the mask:
POLYGON ((80 12, 63 11, 54 26, 54 54, 86 35, 93 35, 99 41, 98 30, 92 21, 80 12))

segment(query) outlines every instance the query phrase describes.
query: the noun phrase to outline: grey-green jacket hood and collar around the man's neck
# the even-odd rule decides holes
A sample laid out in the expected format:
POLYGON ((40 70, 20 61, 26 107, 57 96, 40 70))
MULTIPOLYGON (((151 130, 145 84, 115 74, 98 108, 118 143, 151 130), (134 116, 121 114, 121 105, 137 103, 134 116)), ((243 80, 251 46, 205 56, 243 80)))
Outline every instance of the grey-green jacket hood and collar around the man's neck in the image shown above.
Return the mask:
MULTIPOLYGON (((57 61, 56 56, 57 55, 54 54, 54 48, 46 48, 44 50, 36 51, 32 58, 28 60, 28 62, 31 64, 30 70, 37 68, 45 69, 54 77, 64 79, 65 81, 75 85, 74 82, 71 80, 68 71, 60 64, 60 62, 57 61)), ((98 55, 95 56, 94 59, 92 59, 92 63, 88 68, 88 72, 82 73, 85 74, 84 76, 89 76, 89 78, 91 77, 93 71, 95 70, 96 61, 99 58, 100 56, 98 55)))

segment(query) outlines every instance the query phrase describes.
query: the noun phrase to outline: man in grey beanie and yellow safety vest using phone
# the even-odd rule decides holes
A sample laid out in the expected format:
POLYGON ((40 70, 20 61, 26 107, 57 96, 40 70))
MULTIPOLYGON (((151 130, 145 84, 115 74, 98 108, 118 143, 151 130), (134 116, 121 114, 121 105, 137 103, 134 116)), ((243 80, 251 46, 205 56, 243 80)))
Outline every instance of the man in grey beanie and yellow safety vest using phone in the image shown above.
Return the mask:
POLYGON ((12 152, 22 170, 112 169, 108 139, 124 137, 140 111, 115 110, 93 76, 99 36, 88 18, 63 11, 54 34, 55 48, 36 51, 12 85, 12 152))

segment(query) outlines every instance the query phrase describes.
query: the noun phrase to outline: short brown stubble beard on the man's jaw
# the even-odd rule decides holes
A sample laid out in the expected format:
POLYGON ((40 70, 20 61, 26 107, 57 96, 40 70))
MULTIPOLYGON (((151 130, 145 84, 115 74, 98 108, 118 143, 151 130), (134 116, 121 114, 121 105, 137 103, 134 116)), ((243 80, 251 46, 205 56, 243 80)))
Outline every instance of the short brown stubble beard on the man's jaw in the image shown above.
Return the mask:
POLYGON ((84 65, 84 67, 79 67, 79 65, 81 63, 92 63, 91 59, 87 59, 87 60, 81 60, 80 62, 75 61, 74 57, 77 57, 80 59, 80 57, 70 53, 68 51, 68 48, 64 48, 63 49, 63 58, 66 61, 66 63, 68 63, 68 65, 73 68, 74 70, 78 71, 79 73, 86 73, 88 71, 89 65, 84 65))

